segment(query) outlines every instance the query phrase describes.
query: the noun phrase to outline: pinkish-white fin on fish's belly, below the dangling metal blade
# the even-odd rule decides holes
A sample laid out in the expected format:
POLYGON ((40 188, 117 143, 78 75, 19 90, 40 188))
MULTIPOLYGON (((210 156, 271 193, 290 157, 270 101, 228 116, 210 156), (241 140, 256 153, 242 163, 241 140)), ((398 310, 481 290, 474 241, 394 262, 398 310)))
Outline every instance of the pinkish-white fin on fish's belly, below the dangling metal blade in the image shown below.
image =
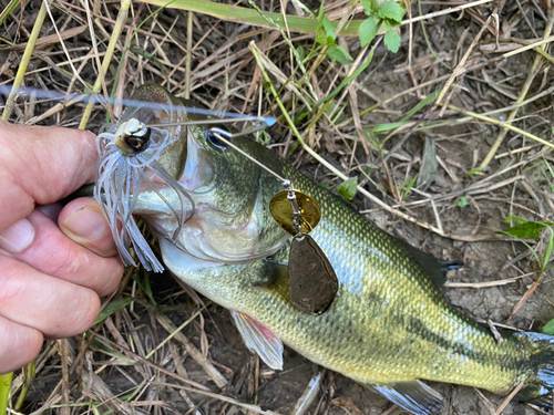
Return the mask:
POLYGON ((238 332, 250 352, 269 367, 283 370, 283 342, 264 324, 238 311, 229 310, 238 332))

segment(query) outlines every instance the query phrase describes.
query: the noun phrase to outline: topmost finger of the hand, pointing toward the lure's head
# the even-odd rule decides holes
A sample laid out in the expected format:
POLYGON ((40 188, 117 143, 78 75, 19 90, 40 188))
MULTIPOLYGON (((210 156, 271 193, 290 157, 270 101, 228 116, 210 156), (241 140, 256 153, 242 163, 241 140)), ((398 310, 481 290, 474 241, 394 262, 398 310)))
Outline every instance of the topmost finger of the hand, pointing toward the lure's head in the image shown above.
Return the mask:
POLYGON ((0 234, 94 178, 94 134, 0 122, 0 234))

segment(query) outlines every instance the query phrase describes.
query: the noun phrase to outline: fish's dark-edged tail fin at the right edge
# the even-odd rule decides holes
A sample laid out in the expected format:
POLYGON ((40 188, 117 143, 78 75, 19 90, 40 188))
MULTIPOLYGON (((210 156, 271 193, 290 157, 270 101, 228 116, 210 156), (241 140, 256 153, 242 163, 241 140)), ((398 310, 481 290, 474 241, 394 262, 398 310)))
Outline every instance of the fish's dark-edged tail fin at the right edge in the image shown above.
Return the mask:
POLYGON ((514 336, 519 345, 529 353, 521 380, 517 380, 524 382, 523 387, 515 398, 552 409, 554 336, 531 332, 516 332, 514 336))

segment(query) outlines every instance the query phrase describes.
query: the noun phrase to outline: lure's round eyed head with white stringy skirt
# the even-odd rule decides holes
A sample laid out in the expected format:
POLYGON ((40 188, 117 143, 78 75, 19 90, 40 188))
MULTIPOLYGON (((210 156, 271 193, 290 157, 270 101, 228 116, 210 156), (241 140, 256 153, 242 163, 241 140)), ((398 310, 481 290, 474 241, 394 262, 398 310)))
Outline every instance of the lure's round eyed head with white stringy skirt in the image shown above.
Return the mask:
MULTIPOLYGON (((173 239, 177 237, 183 224, 193 216, 194 200, 183 186, 157 162, 157 158, 172 142, 170 132, 156 127, 146 127, 136 118, 131 118, 119 127, 114 124, 106 124, 101 131, 103 132, 96 138, 100 157, 96 163, 94 198, 104 209, 123 263, 125 266, 137 266, 131 255, 131 242, 133 242, 138 261, 144 268, 148 271, 162 272, 164 267, 144 239, 132 215, 143 181, 156 191, 156 187, 146 175, 147 172, 152 172, 165 180, 181 200, 179 208, 175 209, 156 191, 179 224, 173 239), (186 216, 187 204, 185 198, 192 205, 186 216)), ((178 137, 175 139, 178 139, 178 137)))

